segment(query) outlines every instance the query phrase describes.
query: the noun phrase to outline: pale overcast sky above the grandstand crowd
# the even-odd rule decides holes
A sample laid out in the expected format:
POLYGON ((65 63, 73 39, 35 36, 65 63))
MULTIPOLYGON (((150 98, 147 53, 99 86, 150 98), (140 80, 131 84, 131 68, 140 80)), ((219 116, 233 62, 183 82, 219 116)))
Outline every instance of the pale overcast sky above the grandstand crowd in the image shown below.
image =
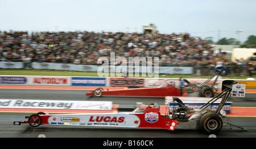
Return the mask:
POLYGON ((0 30, 142 32, 154 23, 164 34, 244 42, 256 35, 255 8, 255 0, 0 0, 0 30))

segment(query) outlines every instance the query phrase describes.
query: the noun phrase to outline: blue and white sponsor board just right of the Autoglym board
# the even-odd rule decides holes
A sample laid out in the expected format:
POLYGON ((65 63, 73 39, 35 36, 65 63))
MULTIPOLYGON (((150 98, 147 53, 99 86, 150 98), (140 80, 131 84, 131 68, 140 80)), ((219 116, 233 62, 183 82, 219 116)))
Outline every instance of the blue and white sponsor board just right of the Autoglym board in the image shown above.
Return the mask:
POLYGON ((72 86, 106 86, 105 77, 72 77, 72 86))

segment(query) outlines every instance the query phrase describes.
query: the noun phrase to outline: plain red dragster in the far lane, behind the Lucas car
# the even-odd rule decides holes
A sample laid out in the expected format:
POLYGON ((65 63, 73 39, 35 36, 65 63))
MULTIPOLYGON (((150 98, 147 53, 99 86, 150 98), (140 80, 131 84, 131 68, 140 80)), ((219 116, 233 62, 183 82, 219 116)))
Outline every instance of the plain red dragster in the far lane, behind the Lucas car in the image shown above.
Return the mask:
MULTIPOLYGON (((208 80, 200 85, 191 84, 188 80, 183 79, 187 85, 185 92, 182 96, 195 96, 195 97, 214 97, 216 88, 215 84, 219 76, 226 76, 228 69, 225 67, 216 68, 214 73, 208 80), (212 86, 206 85, 210 80, 215 77, 212 86)), ((163 84, 155 88, 132 88, 132 89, 119 89, 119 90, 104 90, 97 88, 85 93, 86 96, 112 96, 112 97, 166 97, 166 96, 181 96, 180 89, 175 87, 175 82, 163 84)))

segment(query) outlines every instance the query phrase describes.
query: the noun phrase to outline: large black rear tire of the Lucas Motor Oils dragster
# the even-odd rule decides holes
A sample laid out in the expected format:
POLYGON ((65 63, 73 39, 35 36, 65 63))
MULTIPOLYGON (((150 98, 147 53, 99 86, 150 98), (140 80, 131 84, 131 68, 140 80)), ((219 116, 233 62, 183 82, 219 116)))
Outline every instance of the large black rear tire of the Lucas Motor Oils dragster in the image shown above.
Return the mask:
POLYGON ((205 134, 216 134, 222 128, 222 119, 216 113, 206 113, 200 118, 199 126, 205 134))

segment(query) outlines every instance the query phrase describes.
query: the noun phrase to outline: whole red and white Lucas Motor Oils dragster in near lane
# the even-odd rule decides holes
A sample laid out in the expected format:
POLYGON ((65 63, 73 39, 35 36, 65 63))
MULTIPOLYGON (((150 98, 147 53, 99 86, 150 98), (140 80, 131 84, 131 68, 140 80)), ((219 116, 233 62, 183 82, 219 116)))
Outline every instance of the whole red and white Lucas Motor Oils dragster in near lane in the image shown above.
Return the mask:
MULTIPOLYGON (((228 123, 225 111, 221 110, 229 97, 232 88, 240 86, 236 81, 222 82, 222 92, 199 109, 184 106, 183 102, 173 97, 173 101, 166 105, 166 113, 160 114, 158 104, 150 104, 146 109, 135 109, 130 113, 102 113, 102 114, 53 114, 37 113, 26 117, 22 121, 15 121, 14 125, 28 123, 32 127, 40 125, 72 125, 72 126, 106 126, 131 127, 152 129, 201 129, 203 133, 214 134, 221 130, 222 125, 228 123), (207 107, 222 98, 216 111, 207 107), (174 106, 171 106, 174 105, 174 106), (177 106, 176 106, 177 105, 177 106)), ((232 125, 236 126, 236 125, 232 125)), ((242 127, 236 126, 240 129, 242 127)), ((246 129, 243 129, 246 130, 246 129)))

